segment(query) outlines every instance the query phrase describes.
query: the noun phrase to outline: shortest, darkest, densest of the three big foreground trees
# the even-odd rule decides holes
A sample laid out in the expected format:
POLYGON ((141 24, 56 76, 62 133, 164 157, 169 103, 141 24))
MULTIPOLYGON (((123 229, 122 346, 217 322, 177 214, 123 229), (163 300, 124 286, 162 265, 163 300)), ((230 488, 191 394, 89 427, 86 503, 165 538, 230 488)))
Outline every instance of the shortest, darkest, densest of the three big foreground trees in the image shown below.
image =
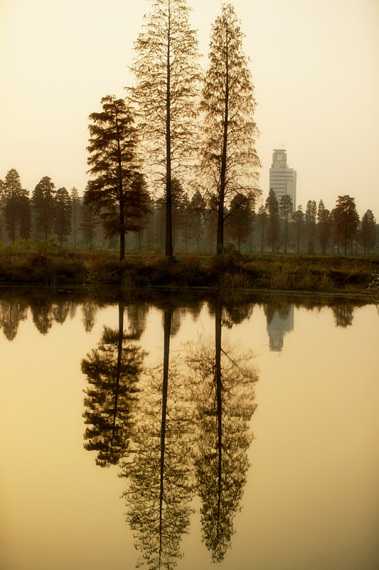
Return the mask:
POLYGON ((102 111, 91 113, 90 156, 92 179, 84 202, 100 215, 107 237, 119 235, 119 259, 125 257, 125 235, 137 231, 147 211, 148 194, 137 163, 137 129, 126 100, 107 95, 102 111))

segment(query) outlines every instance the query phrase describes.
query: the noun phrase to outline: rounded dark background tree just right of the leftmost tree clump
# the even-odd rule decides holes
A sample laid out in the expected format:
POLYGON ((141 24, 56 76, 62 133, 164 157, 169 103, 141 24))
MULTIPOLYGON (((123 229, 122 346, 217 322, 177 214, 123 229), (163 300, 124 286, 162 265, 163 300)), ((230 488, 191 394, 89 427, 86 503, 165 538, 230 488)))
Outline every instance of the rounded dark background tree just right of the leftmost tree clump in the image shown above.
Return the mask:
POLYGON ((38 182, 32 195, 38 237, 48 239, 55 220, 55 185, 48 176, 38 182))

